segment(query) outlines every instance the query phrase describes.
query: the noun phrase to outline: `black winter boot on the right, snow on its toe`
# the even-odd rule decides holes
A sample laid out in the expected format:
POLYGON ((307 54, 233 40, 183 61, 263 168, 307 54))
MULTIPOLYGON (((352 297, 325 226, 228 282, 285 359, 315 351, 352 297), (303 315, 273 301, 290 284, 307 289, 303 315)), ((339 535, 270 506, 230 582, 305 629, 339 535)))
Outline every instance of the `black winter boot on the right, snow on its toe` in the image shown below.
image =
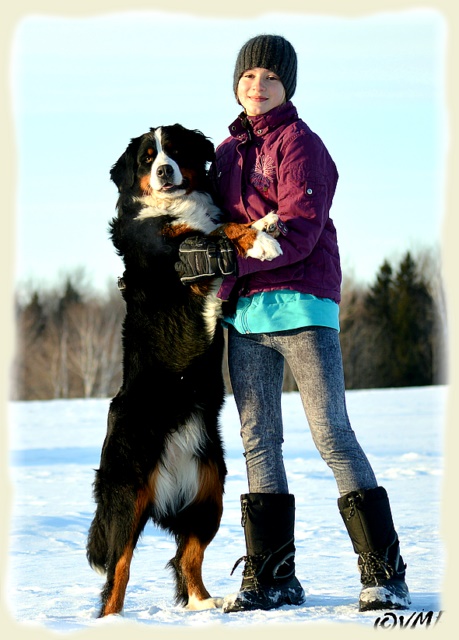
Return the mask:
POLYGON ((360 611, 407 609, 406 565, 400 555, 389 499, 383 487, 352 491, 338 499, 338 508, 359 554, 362 590, 360 611))

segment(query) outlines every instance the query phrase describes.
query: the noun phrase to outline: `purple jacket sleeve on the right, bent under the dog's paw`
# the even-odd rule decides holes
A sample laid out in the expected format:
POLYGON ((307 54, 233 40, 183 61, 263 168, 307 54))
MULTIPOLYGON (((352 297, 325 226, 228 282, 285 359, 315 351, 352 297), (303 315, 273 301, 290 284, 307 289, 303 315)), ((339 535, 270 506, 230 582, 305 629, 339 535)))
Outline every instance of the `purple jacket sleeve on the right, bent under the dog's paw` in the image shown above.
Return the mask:
POLYGON ((307 258, 329 224, 337 180, 336 166, 314 134, 299 131, 286 141, 279 164, 277 209, 287 228, 287 234, 278 238, 283 254, 263 262, 239 256, 238 276, 307 258))

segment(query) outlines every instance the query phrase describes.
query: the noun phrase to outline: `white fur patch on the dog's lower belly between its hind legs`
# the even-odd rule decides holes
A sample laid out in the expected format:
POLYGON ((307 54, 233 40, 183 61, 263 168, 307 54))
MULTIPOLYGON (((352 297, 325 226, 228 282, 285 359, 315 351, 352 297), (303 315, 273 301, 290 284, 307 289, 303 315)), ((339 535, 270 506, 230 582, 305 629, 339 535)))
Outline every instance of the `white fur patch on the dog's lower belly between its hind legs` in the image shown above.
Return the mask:
POLYGON ((193 502, 199 490, 198 454, 204 442, 204 425, 197 415, 169 437, 154 474, 156 515, 177 513, 193 502))

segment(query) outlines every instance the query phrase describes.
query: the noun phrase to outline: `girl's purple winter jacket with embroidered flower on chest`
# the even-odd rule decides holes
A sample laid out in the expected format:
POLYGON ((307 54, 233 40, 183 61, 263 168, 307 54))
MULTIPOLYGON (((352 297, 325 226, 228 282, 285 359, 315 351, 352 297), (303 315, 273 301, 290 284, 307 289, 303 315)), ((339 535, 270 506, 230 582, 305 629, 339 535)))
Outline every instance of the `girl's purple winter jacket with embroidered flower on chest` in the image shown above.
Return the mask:
POLYGON ((233 222, 275 211, 287 233, 278 238, 283 255, 272 261, 239 256, 237 278, 224 279, 219 297, 291 289, 339 302, 340 258, 329 216, 338 172, 322 140, 291 102, 248 123, 241 115, 229 130, 210 169, 219 206, 233 222))

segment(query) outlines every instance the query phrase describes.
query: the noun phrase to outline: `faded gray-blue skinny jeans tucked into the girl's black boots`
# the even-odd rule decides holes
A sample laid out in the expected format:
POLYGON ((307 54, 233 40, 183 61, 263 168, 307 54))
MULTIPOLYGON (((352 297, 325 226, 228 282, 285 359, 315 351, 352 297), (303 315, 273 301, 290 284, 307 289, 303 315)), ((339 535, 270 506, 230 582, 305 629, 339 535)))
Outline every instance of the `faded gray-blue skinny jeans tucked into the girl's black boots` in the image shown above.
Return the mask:
POLYGON ((228 362, 251 493, 288 493, 282 444, 284 360, 303 403, 314 443, 339 494, 377 486, 346 409, 339 335, 327 327, 276 333, 228 331, 228 362))

